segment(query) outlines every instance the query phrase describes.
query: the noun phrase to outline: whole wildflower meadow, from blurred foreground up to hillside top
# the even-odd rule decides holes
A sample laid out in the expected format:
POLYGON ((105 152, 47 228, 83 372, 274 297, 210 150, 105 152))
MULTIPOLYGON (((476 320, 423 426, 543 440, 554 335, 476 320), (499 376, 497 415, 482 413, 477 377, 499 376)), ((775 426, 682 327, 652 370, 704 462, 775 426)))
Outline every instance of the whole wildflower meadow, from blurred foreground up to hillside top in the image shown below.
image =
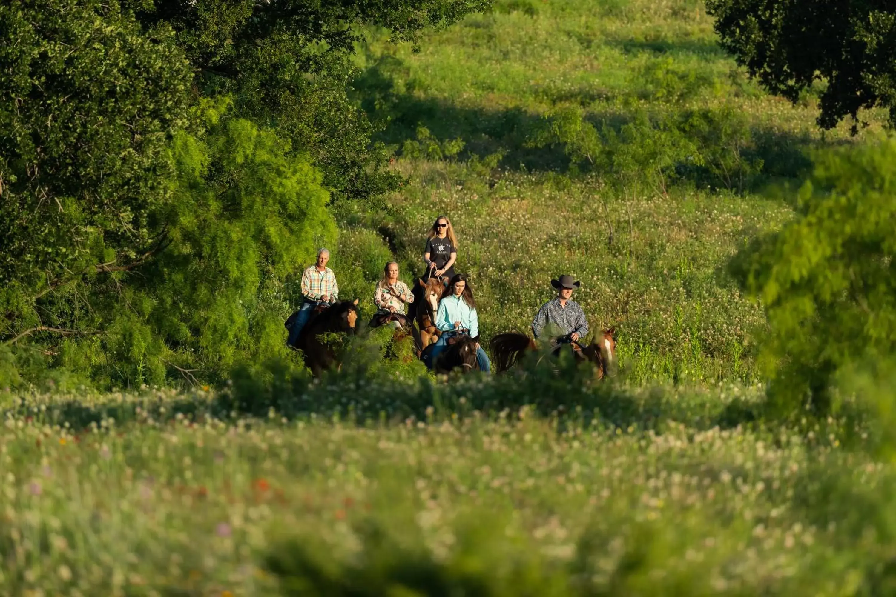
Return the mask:
MULTIPOLYGON (((728 270, 794 217, 817 97, 767 95, 699 0, 496 0, 393 43, 352 97, 405 182, 337 202, 340 298, 458 235, 483 345, 555 291, 610 380, 533 359, 436 378, 375 330, 318 380, 0 393, 8 595, 885 595, 896 469, 866 409, 762 418, 762 305, 728 270)), ((298 280, 295 281, 298 284, 298 280)), ((284 330, 284 340, 286 332, 284 330)))

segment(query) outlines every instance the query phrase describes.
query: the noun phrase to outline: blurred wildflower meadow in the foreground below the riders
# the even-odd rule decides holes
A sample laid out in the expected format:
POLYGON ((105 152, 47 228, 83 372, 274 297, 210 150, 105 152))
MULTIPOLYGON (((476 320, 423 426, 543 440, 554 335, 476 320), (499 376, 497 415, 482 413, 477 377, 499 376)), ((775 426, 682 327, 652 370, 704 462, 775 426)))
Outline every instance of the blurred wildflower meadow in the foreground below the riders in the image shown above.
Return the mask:
MULTIPOLYGON (((572 382, 572 383, 571 383, 572 382)), ((6 594, 881 594, 896 476, 762 388, 333 378, 7 398, 6 594), (415 401, 416 400, 416 401, 415 401), (282 413, 289 413, 283 416, 282 413)))

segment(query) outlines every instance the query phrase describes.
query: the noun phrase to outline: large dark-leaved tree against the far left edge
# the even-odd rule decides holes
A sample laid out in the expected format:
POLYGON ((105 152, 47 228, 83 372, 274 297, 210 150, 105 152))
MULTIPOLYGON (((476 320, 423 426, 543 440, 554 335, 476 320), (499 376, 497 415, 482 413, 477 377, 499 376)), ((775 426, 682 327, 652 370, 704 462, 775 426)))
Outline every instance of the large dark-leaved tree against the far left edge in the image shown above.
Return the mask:
POLYGON ((41 299, 168 242, 156 216, 189 74, 169 30, 144 32, 114 3, 0 6, 0 339, 83 333, 49 322, 41 299))

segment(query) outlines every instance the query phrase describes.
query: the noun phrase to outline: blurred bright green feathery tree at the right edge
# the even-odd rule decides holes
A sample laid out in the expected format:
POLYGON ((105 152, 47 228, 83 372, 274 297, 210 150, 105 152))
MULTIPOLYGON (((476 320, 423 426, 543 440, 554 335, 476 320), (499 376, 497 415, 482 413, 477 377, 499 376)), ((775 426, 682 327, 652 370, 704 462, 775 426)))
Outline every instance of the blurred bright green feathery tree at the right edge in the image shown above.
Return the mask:
POLYGON ((782 412, 827 412, 838 371, 896 349, 896 140, 815 155, 797 217, 730 269, 762 300, 763 361, 782 412))

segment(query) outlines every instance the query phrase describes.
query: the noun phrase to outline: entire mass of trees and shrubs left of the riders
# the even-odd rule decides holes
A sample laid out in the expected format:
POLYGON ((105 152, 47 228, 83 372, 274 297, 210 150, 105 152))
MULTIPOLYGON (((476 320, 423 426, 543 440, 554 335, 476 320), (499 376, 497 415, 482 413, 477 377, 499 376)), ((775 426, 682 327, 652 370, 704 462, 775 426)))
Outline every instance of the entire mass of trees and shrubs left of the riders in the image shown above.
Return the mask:
POLYGON ((285 358, 285 285, 335 242, 333 193, 400 180, 347 96, 357 27, 410 39, 479 6, 0 8, 0 387, 285 358))

